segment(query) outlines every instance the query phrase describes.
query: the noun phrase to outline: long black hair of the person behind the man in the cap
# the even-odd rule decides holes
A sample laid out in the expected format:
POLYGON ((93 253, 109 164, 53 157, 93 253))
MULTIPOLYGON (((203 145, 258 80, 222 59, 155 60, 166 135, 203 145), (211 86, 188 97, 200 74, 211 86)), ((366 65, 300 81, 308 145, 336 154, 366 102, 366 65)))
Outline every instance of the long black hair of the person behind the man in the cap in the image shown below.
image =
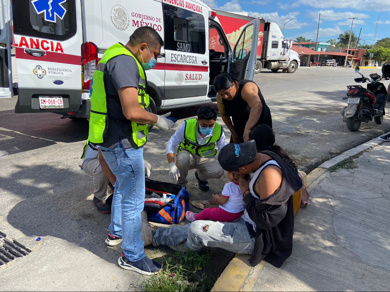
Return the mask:
POLYGON ((294 160, 285 153, 282 147, 275 144, 275 133, 268 125, 262 124, 252 128, 249 139, 255 140, 257 152, 268 150, 276 153, 285 163, 290 164, 297 170, 294 160))

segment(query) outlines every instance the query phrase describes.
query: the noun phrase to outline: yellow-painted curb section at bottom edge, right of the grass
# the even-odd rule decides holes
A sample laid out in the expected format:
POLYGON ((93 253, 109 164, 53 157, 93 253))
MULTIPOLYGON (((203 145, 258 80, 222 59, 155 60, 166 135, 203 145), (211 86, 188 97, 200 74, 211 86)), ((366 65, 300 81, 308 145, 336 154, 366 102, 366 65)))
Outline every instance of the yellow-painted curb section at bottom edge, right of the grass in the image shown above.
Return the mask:
POLYGON ((238 291, 252 268, 249 259, 250 255, 236 253, 215 282, 211 292, 238 291))

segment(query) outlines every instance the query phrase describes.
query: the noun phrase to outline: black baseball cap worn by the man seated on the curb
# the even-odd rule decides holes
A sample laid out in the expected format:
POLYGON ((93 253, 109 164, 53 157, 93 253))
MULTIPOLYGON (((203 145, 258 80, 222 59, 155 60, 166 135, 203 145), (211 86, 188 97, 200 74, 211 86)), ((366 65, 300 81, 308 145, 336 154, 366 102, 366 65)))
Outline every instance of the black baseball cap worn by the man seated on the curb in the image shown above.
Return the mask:
POLYGON ((241 144, 230 143, 220 150, 218 162, 225 171, 236 171, 241 165, 255 160, 256 154, 255 140, 241 144))

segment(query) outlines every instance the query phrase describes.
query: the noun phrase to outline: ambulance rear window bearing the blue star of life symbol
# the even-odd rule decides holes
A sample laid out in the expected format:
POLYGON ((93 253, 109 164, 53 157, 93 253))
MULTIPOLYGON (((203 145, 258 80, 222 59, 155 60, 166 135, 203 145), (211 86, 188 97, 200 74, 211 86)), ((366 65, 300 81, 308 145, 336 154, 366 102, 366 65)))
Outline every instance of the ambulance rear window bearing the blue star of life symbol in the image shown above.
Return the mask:
POLYGON ((76 33, 75 0, 62 3, 43 0, 12 0, 12 6, 15 34, 67 40, 76 33))

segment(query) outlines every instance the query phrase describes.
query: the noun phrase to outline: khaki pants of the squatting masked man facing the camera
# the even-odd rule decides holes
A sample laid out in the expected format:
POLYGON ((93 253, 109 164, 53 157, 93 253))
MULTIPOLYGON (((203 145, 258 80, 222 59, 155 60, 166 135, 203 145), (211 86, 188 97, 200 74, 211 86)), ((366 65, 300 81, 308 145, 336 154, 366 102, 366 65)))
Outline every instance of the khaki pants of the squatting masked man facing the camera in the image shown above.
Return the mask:
POLYGON ((188 151, 181 151, 176 155, 176 166, 180 171, 177 184, 183 187, 188 183, 186 177, 190 169, 197 169, 199 179, 202 181, 220 178, 223 175, 223 169, 215 156, 200 157, 188 151))

